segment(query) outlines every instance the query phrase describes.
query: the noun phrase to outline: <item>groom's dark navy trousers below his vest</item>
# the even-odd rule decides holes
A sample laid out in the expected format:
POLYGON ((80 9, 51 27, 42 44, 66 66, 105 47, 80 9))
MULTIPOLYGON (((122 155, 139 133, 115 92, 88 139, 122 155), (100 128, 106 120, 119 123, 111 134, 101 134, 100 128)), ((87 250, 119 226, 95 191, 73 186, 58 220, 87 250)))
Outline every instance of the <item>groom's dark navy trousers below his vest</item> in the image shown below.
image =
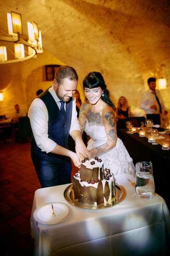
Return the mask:
POLYGON ((42 188, 71 183, 70 157, 65 157, 60 163, 53 163, 31 152, 31 158, 42 188))

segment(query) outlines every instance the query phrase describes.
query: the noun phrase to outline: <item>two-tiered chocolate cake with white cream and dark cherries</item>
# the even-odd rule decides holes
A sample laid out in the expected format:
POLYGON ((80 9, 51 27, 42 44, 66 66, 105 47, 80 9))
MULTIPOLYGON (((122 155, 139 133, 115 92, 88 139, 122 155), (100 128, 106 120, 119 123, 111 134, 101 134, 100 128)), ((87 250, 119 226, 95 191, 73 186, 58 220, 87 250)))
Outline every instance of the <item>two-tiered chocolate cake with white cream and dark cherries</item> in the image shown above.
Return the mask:
POLYGON ((73 177, 71 200, 82 204, 112 204, 116 201, 115 180, 110 169, 104 169, 98 157, 82 160, 73 177))

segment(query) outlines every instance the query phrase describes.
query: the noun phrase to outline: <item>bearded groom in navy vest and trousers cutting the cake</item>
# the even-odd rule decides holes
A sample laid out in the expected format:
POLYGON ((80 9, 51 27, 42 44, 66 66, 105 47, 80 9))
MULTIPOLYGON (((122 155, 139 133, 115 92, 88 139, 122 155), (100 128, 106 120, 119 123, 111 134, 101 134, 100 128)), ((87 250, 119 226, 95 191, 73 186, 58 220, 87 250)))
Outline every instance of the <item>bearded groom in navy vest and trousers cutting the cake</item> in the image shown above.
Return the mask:
POLYGON ((29 108, 31 158, 42 187, 71 183, 71 160, 80 167, 80 155, 91 157, 82 141, 76 101, 72 98, 77 83, 74 68, 59 67, 53 86, 34 99, 29 108), (76 153, 68 150, 69 134, 75 141, 76 153))

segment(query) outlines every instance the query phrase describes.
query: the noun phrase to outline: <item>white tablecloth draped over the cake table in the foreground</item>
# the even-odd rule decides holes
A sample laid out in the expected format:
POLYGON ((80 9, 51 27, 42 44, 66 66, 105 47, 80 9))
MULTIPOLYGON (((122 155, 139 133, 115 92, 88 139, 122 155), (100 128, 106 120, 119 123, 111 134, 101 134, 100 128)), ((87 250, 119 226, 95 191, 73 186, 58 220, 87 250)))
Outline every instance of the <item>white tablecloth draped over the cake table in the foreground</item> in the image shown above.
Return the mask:
POLYGON ((131 175, 116 175, 125 187, 124 201, 107 209, 87 210, 69 204, 64 190, 69 184, 37 189, 31 215, 34 256, 156 256, 170 255, 170 214, 164 199, 138 198, 131 175), (73 212, 55 225, 37 223, 34 210, 50 202, 65 202, 73 212))

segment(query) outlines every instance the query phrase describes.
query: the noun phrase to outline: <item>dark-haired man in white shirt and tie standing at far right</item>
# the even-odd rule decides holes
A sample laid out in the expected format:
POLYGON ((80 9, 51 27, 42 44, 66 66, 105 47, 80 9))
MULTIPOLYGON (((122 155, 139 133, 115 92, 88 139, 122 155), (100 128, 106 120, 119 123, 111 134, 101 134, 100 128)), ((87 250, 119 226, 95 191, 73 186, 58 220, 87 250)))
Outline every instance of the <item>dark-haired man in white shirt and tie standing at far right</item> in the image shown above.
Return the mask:
POLYGON ((156 78, 150 77, 147 80, 149 90, 142 95, 140 108, 146 111, 147 119, 152 119, 154 124, 161 124, 160 114, 167 115, 163 99, 159 90, 156 90, 156 78))

